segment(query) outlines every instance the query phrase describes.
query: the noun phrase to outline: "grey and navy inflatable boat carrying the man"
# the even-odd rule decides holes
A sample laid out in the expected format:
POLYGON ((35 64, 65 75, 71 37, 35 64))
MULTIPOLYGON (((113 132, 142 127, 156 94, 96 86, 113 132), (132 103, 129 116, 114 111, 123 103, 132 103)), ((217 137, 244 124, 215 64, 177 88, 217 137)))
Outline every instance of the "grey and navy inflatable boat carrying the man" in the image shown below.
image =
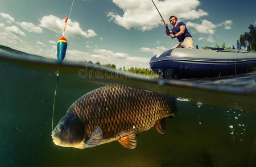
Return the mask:
POLYGON ((175 48, 152 57, 150 68, 163 78, 230 76, 256 70, 256 53, 175 48))

